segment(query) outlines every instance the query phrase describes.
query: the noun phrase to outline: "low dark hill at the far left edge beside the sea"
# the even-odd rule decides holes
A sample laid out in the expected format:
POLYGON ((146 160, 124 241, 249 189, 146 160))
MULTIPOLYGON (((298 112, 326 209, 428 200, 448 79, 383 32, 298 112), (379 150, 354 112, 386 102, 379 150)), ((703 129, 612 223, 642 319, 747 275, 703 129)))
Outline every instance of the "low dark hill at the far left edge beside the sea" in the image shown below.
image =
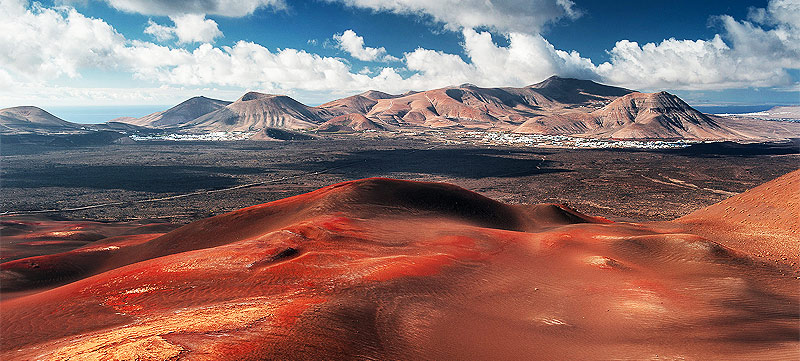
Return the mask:
POLYGON ((0 109, 0 134, 74 132, 82 128, 81 124, 68 122, 33 106, 0 109))

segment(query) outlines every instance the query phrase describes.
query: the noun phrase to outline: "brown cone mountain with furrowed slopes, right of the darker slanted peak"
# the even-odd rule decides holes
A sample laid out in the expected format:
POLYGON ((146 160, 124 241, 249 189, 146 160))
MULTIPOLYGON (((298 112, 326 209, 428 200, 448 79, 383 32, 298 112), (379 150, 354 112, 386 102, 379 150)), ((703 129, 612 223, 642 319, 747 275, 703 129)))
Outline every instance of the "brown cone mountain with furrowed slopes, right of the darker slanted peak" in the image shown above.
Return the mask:
POLYGON ((223 108, 186 123, 184 128, 205 131, 309 129, 323 121, 314 108, 285 95, 249 92, 223 108))

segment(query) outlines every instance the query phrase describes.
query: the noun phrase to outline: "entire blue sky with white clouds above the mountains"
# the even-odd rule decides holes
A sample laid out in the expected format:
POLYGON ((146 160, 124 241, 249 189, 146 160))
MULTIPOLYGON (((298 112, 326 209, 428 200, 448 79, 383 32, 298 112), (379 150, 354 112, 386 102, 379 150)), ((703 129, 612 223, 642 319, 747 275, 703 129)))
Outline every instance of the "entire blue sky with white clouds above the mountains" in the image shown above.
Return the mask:
POLYGON ((551 75, 800 104, 800 0, 0 0, 0 107, 318 105, 551 75))

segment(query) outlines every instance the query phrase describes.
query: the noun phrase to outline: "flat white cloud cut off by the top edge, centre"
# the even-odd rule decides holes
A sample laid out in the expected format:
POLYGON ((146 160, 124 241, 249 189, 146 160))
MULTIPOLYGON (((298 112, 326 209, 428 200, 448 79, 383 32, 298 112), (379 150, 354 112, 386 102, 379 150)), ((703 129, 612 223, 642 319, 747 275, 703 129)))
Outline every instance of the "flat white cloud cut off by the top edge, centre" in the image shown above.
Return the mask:
POLYGON ((328 0, 398 14, 430 16, 450 30, 485 26, 500 32, 538 33, 558 19, 577 18, 571 0, 328 0))

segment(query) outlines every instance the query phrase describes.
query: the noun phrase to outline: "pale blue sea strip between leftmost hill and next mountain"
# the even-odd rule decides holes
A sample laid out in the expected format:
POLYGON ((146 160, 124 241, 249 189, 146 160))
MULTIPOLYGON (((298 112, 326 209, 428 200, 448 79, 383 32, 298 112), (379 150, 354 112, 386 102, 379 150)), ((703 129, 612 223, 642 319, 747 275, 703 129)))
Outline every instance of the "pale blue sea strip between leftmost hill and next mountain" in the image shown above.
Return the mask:
POLYGON ((61 119, 81 124, 97 124, 119 117, 139 118, 150 113, 166 110, 172 105, 121 105, 93 107, 42 107, 61 119))

